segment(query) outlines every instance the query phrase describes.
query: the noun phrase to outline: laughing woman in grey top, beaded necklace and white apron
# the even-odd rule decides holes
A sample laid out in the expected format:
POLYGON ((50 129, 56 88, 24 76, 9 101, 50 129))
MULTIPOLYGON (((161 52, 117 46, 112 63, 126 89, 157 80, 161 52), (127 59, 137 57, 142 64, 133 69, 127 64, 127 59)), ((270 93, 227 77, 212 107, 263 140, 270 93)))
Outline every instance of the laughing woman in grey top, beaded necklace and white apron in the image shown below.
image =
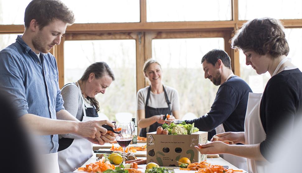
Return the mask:
MULTIPOLYGON (((112 70, 105 62, 93 63, 78 82, 62 88, 65 109, 80 121, 102 120, 97 114, 99 105, 94 97, 100 92, 104 94, 114 79, 112 70)), ((114 140, 110 135, 104 137, 114 140)), ((59 138, 60 172, 72 172, 92 157, 92 143, 87 139, 73 134, 59 135, 59 138)))

